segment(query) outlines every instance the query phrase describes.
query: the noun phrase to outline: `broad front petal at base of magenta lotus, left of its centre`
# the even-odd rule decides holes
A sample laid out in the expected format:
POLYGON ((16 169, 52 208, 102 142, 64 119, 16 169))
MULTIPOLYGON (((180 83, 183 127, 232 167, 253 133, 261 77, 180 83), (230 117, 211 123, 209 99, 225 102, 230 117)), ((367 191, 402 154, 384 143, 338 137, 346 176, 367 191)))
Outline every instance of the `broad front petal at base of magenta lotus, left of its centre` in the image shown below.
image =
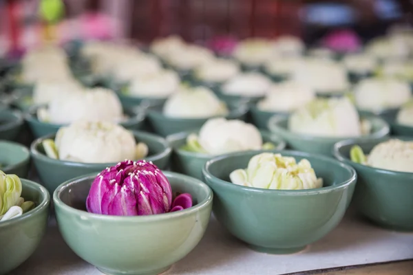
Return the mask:
POLYGON ((136 216, 138 210, 136 209, 136 197, 134 192, 123 186, 120 188, 112 202, 109 203, 107 214, 115 216, 136 216))

